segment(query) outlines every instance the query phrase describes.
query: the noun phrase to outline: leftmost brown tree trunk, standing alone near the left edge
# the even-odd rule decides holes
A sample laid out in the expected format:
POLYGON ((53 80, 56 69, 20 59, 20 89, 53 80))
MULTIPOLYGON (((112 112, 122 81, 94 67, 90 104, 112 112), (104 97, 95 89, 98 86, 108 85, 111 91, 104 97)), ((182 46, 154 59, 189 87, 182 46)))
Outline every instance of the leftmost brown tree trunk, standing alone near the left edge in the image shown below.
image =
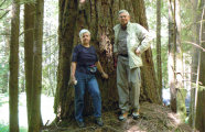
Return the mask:
POLYGON ((20 26, 20 3, 13 0, 11 19, 11 38, 10 38, 10 78, 9 78, 9 131, 19 132, 19 112, 18 112, 18 90, 19 90, 19 26, 20 26))

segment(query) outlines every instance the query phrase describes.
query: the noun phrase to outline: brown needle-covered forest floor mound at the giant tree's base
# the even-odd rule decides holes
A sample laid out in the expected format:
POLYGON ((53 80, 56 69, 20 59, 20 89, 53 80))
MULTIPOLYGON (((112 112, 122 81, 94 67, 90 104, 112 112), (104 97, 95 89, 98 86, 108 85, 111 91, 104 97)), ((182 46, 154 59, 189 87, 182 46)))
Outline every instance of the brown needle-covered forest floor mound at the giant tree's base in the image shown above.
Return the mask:
POLYGON ((44 128, 43 132, 192 132, 192 129, 182 123, 179 116, 170 108, 154 103, 141 103, 140 118, 126 121, 118 120, 119 111, 102 113, 104 127, 97 127, 93 117, 86 117, 86 128, 79 129, 75 121, 64 127, 57 124, 44 128))

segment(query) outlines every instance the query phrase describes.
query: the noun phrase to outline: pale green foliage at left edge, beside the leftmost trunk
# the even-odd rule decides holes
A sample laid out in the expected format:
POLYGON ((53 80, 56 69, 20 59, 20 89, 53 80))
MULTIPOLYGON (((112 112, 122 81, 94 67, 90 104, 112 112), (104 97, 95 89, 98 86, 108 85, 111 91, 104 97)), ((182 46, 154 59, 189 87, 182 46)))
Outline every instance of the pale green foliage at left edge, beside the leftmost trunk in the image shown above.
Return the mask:
POLYGON ((0 94, 8 92, 11 0, 0 2, 0 94))

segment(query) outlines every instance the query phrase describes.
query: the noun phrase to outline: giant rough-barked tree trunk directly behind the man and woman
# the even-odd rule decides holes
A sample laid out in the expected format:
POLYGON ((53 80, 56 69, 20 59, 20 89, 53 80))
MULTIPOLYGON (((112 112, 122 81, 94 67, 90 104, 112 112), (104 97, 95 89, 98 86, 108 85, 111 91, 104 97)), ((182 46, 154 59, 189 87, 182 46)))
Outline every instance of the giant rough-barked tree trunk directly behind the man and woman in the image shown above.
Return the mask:
MULTIPOLYGON (((91 32, 91 45, 96 47, 101 65, 105 72, 109 74, 108 80, 104 80, 97 75, 102 98, 102 110, 118 108, 116 69, 114 68, 112 58, 112 28, 118 23, 118 11, 121 9, 127 9, 130 12, 132 22, 138 22, 148 29, 143 0, 60 1, 60 64, 55 96, 57 120, 73 118, 74 88, 68 87, 67 84, 69 79, 71 55, 73 46, 79 42, 78 32, 84 28, 91 32)), ((160 103, 161 95, 158 92, 151 50, 148 50, 142 56, 144 66, 142 67, 140 99, 160 103)), ((85 98, 86 107, 84 112, 89 114, 93 111, 90 99, 87 95, 85 98)))

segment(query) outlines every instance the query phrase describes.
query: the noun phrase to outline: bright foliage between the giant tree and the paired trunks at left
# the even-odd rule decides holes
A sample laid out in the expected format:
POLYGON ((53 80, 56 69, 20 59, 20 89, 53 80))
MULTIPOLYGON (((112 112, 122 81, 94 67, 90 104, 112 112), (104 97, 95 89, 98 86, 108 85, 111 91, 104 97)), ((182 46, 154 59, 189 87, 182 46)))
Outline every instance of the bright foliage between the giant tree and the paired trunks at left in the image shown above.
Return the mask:
POLYGON ((57 0, 47 0, 44 10, 44 40, 43 40, 43 89, 42 92, 54 96, 56 89, 56 72, 58 62, 57 0))

